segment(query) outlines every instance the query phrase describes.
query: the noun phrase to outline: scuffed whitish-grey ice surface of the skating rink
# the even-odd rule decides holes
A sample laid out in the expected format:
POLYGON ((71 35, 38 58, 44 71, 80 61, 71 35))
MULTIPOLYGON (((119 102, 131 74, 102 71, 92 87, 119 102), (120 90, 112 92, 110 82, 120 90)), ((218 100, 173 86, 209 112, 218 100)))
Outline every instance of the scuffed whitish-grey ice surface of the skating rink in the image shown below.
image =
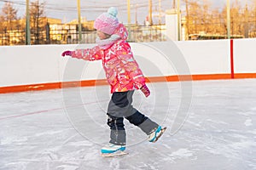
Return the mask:
POLYGON ((136 92, 134 106, 167 130, 151 144, 126 121, 129 155, 116 158, 100 155, 108 86, 0 94, 0 169, 256 169, 256 79, 191 84, 184 115, 180 82, 148 84, 148 99, 136 92))

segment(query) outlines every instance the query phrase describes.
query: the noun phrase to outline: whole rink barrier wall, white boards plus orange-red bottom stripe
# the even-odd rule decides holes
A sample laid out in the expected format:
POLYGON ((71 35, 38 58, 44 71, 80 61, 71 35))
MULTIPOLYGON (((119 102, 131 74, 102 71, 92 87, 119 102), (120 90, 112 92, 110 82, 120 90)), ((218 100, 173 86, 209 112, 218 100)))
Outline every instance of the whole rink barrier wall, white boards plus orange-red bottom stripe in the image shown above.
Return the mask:
MULTIPOLYGON (((140 62, 147 82, 177 82, 220 80, 234 78, 256 78, 256 62, 253 48, 255 39, 214 40, 196 42, 176 42, 177 48, 189 65, 190 75, 177 75, 166 61, 158 57, 154 51, 143 47, 140 43, 132 43, 131 48, 136 55, 147 56, 150 62, 160 68, 155 74, 152 68, 140 62), (198 51, 200 49, 200 51, 198 51), (200 60, 200 62, 198 62, 200 60)), ((160 42, 159 42, 160 43, 160 42)), ((86 87, 107 85, 102 74, 102 64, 88 65, 89 72, 82 75, 81 80, 61 81, 67 59, 61 58, 62 51, 73 49, 77 45, 44 45, 0 47, 0 94, 55 88, 86 87), (46 53, 47 52, 47 53, 46 53), (46 54, 45 54, 46 53, 46 54)), ((90 48, 92 45, 86 45, 90 48)), ((74 65, 84 65, 77 59, 74 65), (77 62, 77 63, 76 63, 77 62)), ((93 62, 94 63, 94 62, 93 62)))

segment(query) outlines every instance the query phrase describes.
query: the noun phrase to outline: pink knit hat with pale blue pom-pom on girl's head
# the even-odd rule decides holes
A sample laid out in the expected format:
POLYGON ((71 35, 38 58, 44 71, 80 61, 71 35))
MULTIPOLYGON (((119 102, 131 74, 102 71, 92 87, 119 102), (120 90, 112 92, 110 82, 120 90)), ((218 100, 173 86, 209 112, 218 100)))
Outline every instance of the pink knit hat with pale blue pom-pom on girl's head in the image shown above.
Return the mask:
POLYGON ((117 8, 108 8, 108 13, 103 13, 96 18, 94 28, 108 35, 112 35, 119 26, 119 20, 116 18, 117 14, 117 8))

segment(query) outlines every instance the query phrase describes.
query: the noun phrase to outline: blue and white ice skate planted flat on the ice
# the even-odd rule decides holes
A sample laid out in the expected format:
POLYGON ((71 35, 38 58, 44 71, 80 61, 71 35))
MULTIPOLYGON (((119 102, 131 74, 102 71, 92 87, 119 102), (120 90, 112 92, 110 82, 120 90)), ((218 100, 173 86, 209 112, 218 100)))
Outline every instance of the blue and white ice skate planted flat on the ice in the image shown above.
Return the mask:
POLYGON ((104 157, 124 156, 127 154, 125 145, 108 144, 102 147, 102 156, 104 157))

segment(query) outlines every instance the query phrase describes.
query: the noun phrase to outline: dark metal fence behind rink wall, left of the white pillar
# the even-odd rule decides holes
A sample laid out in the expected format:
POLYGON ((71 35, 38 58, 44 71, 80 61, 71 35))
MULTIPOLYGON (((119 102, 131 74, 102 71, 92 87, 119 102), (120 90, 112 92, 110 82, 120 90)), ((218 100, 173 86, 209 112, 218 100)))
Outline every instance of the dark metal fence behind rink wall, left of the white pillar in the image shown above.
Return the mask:
MULTIPOLYGON (((130 42, 166 41, 166 29, 160 26, 131 26, 130 42)), ((83 43, 95 43, 96 31, 82 31, 83 43)), ((24 30, 0 31, 0 45, 25 45, 24 30)), ((31 30, 31 44, 76 44, 79 43, 77 25, 43 26, 31 30)))

